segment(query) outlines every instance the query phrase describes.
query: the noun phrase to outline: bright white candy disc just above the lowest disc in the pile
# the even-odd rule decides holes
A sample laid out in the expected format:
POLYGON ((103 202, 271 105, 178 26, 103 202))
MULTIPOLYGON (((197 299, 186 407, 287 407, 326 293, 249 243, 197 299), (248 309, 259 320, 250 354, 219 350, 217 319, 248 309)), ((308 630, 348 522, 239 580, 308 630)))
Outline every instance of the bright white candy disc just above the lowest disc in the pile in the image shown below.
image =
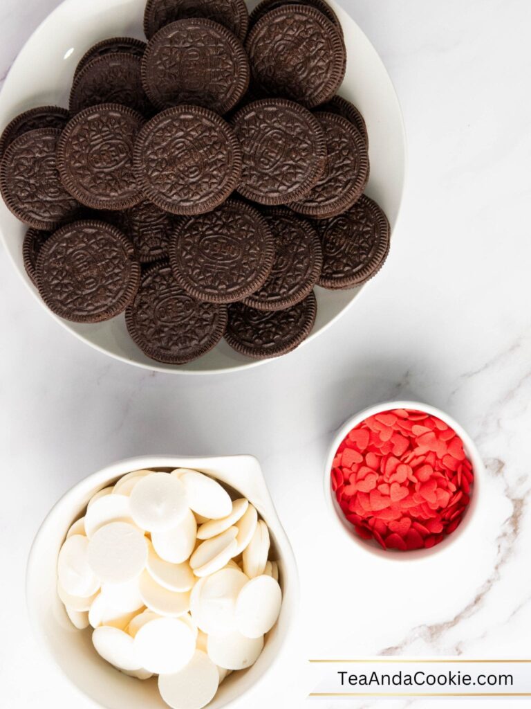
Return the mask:
POLYGON ((154 674, 182 669, 195 652, 195 636, 178 618, 159 618, 142 625, 135 635, 135 656, 154 674))

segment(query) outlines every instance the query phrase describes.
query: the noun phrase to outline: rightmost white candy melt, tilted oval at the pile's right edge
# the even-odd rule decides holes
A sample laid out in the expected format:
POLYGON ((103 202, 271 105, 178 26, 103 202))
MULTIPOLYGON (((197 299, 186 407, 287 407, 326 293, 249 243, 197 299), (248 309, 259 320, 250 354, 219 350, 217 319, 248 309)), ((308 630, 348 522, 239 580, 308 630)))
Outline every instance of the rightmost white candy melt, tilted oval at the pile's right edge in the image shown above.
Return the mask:
POLYGON ((243 588, 236 601, 236 627, 245 637, 261 637, 278 620, 282 591, 271 576, 256 576, 243 588))

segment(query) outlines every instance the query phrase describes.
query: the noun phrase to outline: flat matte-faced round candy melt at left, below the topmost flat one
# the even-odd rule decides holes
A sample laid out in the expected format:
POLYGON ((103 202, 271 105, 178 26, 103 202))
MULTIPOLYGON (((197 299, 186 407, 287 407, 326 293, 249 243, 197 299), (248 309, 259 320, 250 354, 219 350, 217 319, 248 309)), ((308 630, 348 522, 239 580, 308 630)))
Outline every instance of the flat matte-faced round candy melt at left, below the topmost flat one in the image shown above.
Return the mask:
MULTIPOLYGON (((113 498, 127 500, 120 495, 113 495, 113 498)), ((147 539, 138 527, 111 522, 98 529, 90 540, 88 559, 91 569, 102 582, 122 584, 132 581, 146 566, 147 539)))

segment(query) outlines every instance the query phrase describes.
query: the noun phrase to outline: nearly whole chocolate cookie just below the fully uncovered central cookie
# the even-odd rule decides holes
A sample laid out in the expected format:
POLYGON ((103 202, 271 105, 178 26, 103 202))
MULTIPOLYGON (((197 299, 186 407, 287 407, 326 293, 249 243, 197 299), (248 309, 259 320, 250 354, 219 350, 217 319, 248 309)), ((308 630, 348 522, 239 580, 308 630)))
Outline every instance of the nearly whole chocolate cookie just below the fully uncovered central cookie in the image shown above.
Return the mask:
POLYGON ((275 258, 275 240, 256 209, 230 199, 186 220, 170 245, 176 281, 194 298, 232 303, 258 290, 275 258))

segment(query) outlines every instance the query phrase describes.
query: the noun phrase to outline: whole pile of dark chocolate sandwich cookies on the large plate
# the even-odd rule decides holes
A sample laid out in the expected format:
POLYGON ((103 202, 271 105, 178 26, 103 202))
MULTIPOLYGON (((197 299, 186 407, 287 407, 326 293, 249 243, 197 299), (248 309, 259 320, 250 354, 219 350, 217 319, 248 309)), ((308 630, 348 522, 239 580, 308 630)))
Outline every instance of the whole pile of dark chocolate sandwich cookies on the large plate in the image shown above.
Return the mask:
POLYGON ((337 95, 346 48, 324 0, 148 0, 147 43, 81 57, 69 110, 0 138, 0 190, 30 229, 26 270, 76 323, 125 311, 132 339, 184 364, 225 337, 295 349, 314 287, 370 279, 389 223, 363 194, 368 136, 337 95))

